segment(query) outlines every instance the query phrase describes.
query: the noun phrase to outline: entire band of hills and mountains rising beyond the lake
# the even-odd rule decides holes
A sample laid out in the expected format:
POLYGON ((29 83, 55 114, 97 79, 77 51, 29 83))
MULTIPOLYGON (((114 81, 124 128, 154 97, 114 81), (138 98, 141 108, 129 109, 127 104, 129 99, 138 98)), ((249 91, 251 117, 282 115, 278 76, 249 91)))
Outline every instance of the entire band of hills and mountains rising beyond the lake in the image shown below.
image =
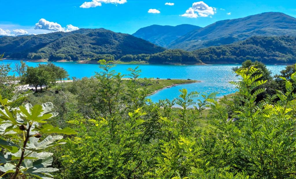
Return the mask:
POLYGON ((103 28, 35 36, 2 36, 0 54, 3 52, 7 58, 49 61, 122 59, 125 62, 195 64, 201 61, 241 63, 251 59, 275 64, 295 63, 296 18, 267 12, 218 21, 204 28, 152 25, 138 30, 133 36, 103 28), (161 46, 181 50, 165 51, 161 46))

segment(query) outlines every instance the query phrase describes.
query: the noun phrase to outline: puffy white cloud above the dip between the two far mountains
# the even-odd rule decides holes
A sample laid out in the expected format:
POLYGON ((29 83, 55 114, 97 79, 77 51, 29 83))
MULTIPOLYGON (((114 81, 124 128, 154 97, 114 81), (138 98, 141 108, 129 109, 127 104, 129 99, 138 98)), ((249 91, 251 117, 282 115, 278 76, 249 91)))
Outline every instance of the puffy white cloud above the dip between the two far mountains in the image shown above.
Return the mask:
POLYGON ((183 17, 197 18, 197 17, 208 17, 216 13, 215 7, 210 7, 205 4, 203 1, 194 2, 192 7, 186 10, 185 14, 182 14, 183 17))

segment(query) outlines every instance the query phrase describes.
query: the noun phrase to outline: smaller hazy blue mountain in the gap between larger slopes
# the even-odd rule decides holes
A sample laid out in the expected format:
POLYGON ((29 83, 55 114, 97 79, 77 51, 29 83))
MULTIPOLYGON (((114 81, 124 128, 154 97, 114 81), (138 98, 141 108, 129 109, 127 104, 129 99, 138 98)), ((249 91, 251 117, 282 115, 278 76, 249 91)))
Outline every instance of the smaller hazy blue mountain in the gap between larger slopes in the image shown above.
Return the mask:
POLYGON ((200 29, 201 27, 189 24, 170 26, 170 25, 151 25, 139 29, 133 34, 135 37, 142 38, 158 46, 166 47, 177 38, 184 36, 186 33, 200 29))

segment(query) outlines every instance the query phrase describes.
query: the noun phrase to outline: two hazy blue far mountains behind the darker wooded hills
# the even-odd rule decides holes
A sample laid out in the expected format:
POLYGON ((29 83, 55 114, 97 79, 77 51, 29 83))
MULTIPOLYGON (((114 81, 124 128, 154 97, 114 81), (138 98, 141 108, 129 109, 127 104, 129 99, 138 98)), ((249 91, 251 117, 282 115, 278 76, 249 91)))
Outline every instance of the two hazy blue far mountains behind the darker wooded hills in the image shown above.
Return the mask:
POLYGON ((230 44, 252 36, 295 36, 296 18, 280 12, 266 12, 239 19, 218 21, 204 28, 192 28, 192 26, 181 25, 181 28, 178 29, 179 35, 180 31, 185 34, 179 38, 176 38, 177 35, 171 32, 173 30, 155 25, 141 28, 133 35, 168 49, 192 51, 209 46, 230 44), (173 37, 176 39, 169 43, 173 37), (168 40, 163 43, 163 39, 168 40))

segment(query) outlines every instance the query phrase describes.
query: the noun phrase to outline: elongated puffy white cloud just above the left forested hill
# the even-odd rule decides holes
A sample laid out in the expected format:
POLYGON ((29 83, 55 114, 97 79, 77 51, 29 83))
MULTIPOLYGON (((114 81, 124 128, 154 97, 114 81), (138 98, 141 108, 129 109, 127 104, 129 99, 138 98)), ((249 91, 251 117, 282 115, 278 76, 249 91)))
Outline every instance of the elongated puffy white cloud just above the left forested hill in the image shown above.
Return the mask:
POLYGON ((63 28, 57 22, 49 22, 46 19, 40 19, 39 22, 35 24, 35 29, 70 32, 73 30, 78 30, 79 28, 71 24, 67 25, 67 28, 63 28))

